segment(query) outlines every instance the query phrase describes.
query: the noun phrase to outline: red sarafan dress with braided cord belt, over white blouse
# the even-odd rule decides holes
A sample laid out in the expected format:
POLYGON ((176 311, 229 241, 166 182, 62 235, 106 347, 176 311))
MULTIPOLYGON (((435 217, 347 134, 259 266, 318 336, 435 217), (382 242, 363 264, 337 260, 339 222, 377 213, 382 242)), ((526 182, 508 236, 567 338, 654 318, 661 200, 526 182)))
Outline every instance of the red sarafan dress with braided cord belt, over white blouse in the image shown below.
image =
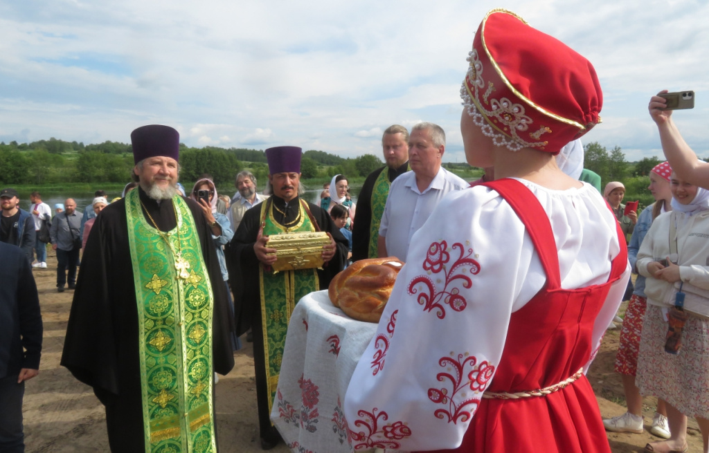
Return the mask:
MULTIPOLYGON (((529 190, 486 183, 525 224, 547 285, 510 318, 502 360, 486 393, 544 389, 569 379, 592 354, 591 332, 610 285, 627 266, 627 248, 613 260, 608 282, 562 289, 551 225, 529 190)), ((623 233, 618 229, 619 238, 623 233)), ((457 449, 439 452, 610 452, 596 396, 585 375, 545 396, 483 398, 457 449)))

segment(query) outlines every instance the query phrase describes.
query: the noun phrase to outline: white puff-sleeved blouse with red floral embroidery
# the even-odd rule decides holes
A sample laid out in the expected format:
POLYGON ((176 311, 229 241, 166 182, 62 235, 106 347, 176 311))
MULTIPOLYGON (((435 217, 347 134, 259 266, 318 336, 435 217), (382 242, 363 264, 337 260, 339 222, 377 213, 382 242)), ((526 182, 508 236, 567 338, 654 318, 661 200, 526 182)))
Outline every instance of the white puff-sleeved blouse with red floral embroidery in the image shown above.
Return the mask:
MULTIPOLYGON (((586 183, 578 189, 549 190, 520 182, 549 214, 562 287, 606 282, 610 260, 620 246, 615 217, 598 191, 586 183)), ((618 309, 629 275, 628 267, 596 319, 594 351, 618 309)), ((470 418, 437 417, 435 411, 444 406, 429 394, 429 389, 442 387, 437 380, 445 371, 440 359, 471 355, 477 364, 487 361, 496 367, 511 314, 525 306, 545 280, 530 236, 498 193, 484 186, 449 193, 413 236, 376 335, 350 380, 345 418, 355 437, 367 437, 366 442, 354 438, 352 446, 381 441, 406 451, 458 447, 470 418)), ((464 369, 464 381, 469 372, 464 369)), ((487 385, 494 375, 489 377, 487 385)), ((455 407, 474 415, 476 404, 464 403, 471 397, 464 383, 447 389, 452 403, 445 410, 455 407)))

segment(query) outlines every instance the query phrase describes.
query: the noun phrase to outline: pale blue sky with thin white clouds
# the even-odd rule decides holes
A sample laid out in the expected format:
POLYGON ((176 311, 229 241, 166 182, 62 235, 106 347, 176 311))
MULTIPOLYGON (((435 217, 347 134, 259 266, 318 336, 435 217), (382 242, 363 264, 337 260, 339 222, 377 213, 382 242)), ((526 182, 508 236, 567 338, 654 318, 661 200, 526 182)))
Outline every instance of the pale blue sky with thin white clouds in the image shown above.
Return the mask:
POLYGON ((292 144, 381 154, 393 123, 447 133, 464 161, 459 87, 481 18, 505 7, 596 67, 603 124, 584 137, 660 156, 647 114, 662 88, 709 156, 709 6, 679 0, 0 0, 0 141, 130 142, 146 124, 192 147, 292 144))

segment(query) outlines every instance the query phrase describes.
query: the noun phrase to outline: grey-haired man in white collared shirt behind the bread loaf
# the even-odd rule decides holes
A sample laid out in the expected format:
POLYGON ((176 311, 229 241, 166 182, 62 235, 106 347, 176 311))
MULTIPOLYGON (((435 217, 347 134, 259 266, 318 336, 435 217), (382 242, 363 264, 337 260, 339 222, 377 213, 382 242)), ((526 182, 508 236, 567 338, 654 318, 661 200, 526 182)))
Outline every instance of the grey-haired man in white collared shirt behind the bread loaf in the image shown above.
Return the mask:
POLYGON ((439 125, 421 122, 412 128, 408 139, 411 171, 391 183, 379 226, 380 257, 396 256, 406 262, 411 236, 442 197, 468 187, 465 180, 441 167, 444 152, 445 132, 439 125))

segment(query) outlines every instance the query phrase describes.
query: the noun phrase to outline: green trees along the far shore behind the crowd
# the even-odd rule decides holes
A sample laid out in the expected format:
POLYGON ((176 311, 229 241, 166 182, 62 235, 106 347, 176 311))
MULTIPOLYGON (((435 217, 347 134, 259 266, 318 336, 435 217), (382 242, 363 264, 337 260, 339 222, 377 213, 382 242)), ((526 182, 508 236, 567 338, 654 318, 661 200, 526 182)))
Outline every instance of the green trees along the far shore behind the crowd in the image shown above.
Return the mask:
MULTIPOLYGON (((646 157, 635 163, 625 160, 620 147, 610 151, 590 142, 584 146, 585 167, 601 176, 603 185, 611 180, 625 184, 626 200, 640 200, 645 206, 652 202, 647 191, 648 173, 659 163, 657 157, 646 157)), ((55 139, 38 142, 0 143, 0 187, 7 185, 51 185, 67 183, 126 183, 133 168, 130 144, 104 142, 84 145, 55 139)), ((262 185, 267 179, 268 167, 264 151, 203 147, 191 148, 180 144, 181 179, 194 181, 209 173, 220 186, 233 186, 234 176, 249 168, 262 185)), ((374 169, 383 166, 379 154, 362 154, 344 158, 325 151, 311 149, 303 153, 301 171, 306 180, 329 180, 341 173, 352 180, 362 180, 374 169)), ((464 178, 479 174, 467 164, 445 164, 464 178)), ((475 176, 476 177, 476 176, 475 176)))

